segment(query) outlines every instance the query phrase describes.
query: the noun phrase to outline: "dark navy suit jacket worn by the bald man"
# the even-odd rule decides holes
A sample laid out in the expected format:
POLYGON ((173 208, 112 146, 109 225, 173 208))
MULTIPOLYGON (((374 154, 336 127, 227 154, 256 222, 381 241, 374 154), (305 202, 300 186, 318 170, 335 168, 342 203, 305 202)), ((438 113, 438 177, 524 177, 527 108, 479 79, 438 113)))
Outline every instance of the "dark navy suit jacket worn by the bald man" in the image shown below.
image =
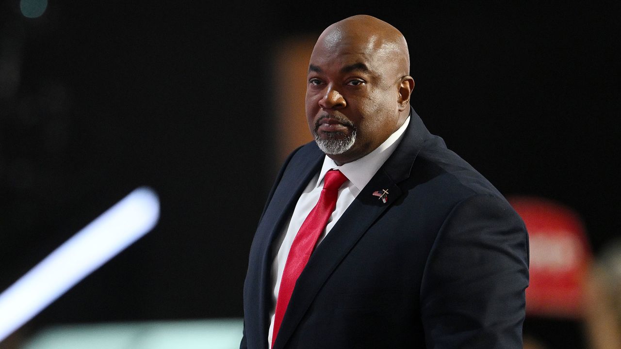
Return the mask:
MULTIPOLYGON (((528 237, 504 197, 412 110, 404 138, 313 252, 274 349, 522 348, 528 237), (388 189, 384 203, 374 191, 388 189)), ((278 174, 250 248, 241 348, 268 348, 272 242, 320 170, 278 174)))

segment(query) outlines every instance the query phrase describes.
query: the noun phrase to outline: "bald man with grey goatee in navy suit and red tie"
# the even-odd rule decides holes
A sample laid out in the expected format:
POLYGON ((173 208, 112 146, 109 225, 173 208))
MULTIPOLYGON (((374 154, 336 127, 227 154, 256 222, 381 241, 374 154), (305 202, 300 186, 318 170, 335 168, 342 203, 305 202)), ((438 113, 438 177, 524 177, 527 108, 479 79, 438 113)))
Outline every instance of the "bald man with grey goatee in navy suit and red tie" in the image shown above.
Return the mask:
POLYGON ((242 348, 522 348, 524 224, 425 129, 409 64, 374 17, 320 35, 315 142, 286 160, 256 230, 242 348))

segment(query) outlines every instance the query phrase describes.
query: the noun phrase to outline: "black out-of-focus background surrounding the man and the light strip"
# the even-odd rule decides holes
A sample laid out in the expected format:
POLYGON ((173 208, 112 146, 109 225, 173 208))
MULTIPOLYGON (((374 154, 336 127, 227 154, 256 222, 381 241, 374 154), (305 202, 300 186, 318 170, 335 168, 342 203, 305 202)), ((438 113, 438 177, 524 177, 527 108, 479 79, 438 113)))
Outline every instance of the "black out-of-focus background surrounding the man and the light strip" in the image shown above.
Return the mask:
POLYGON ((621 229, 619 2, 53 1, 0 5, 0 289, 132 189, 161 219, 44 310, 57 322, 241 317, 277 170, 270 57, 371 14, 409 42, 412 104, 505 195, 621 229))

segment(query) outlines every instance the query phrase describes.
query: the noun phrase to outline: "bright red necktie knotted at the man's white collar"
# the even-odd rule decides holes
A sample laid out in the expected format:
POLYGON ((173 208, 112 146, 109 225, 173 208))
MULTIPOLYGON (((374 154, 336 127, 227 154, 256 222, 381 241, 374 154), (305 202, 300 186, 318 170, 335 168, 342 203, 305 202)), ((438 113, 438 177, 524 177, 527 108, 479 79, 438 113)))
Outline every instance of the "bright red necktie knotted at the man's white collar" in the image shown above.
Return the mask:
POLYGON ((278 301, 276 301, 276 314, 274 314, 274 332, 272 334, 271 346, 274 347, 276 335, 283 322, 284 312, 287 310, 289 299, 296 286, 297 278, 302 273, 304 266, 311 258, 311 253, 315 248, 319 235, 324 231, 325 225, 337 206, 338 188, 347 181, 345 174, 338 170, 330 170, 324 177, 324 189, 321 191, 319 201, 306 216, 304 223, 298 230, 294 238, 284 264, 283 277, 280 281, 278 291, 278 301))

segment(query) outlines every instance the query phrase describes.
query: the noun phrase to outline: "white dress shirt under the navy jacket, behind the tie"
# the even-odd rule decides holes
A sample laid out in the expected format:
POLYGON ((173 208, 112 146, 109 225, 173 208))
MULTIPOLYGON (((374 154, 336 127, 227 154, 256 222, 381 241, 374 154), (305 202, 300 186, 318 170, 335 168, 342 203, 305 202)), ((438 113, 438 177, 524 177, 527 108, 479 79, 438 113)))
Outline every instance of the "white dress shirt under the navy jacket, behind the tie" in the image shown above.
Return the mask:
POLYGON ((302 223, 304 223, 306 216, 309 215, 313 207, 315 207, 315 204, 317 204, 317 201, 319 201, 321 191, 324 189, 325 173, 329 170, 340 170, 343 174, 345 174, 348 181, 346 181, 345 184, 338 189, 337 206, 332 212, 332 215, 330 215, 324 232, 319 236, 317 245, 324 240, 325 235, 330 232, 330 229, 332 229, 332 227, 337 223, 338 219, 343 215, 343 212, 347 210, 347 207, 350 206, 351 202, 354 201, 356 196, 360 194, 360 191, 365 188, 366 184, 369 183, 374 174, 382 165, 384 165, 384 162, 386 162, 388 157, 391 156, 392 152, 394 152, 397 145, 399 145, 399 142, 401 142, 402 135, 405 132, 409 122, 410 118, 408 117, 403 125, 401 125, 399 129, 390 135, 384 143, 379 145, 379 147, 373 150, 373 152, 368 153, 356 161, 338 166, 331 158, 325 156, 324 165, 321 170, 319 173, 315 174, 314 178, 311 179, 309 184, 306 186, 306 189, 304 189, 304 192, 300 195, 297 200, 296 208, 291 215, 291 219, 289 219, 289 222, 284 226, 283 232, 280 234, 279 238, 274 240, 274 261, 271 268, 273 306, 270 310, 270 332, 268 332, 269 348, 271 348, 271 338, 274 330, 276 299, 278 299, 280 280, 283 276, 284 265, 287 261, 287 256, 289 255, 289 249, 291 249, 291 245, 297 235, 297 231, 302 226, 302 223))

